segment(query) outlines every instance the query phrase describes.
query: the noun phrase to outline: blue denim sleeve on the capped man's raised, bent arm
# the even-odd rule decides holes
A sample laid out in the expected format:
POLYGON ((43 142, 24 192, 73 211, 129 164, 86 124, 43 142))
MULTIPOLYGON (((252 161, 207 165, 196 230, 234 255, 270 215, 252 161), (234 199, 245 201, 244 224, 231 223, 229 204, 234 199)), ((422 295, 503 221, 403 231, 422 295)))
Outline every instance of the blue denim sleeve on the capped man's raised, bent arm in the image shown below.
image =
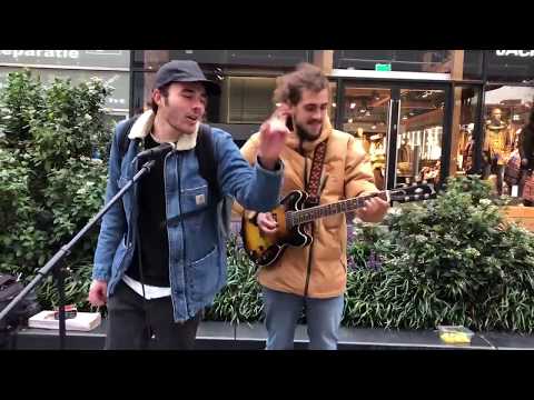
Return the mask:
POLYGON ((281 160, 275 171, 266 170, 259 162, 250 167, 231 136, 221 130, 217 131, 215 153, 221 192, 233 196, 249 210, 266 212, 278 206, 284 178, 281 160))

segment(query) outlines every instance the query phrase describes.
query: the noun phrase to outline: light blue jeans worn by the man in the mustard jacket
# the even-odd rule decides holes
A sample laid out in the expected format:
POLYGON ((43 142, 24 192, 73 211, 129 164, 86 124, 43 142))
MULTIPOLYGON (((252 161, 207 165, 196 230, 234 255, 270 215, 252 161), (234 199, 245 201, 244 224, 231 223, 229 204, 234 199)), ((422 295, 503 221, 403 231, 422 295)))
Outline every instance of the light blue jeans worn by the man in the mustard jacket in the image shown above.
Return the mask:
POLYGON ((337 350, 343 316, 343 294, 329 299, 310 299, 263 288, 267 350, 291 350, 295 329, 306 309, 310 350, 337 350))

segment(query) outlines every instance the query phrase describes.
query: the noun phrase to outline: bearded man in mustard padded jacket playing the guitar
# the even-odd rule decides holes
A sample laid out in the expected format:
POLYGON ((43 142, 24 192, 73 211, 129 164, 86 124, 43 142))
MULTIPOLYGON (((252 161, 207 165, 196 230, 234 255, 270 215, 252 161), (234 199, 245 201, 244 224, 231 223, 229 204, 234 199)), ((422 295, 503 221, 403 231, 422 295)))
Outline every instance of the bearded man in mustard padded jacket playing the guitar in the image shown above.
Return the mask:
MULTIPOLYGON (((274 100, 288 116, 289 133, 280 153, 285 164, 283 196, 305 190, 314 150, 325 140, 319 203, 377 192, 369 158, 360 143, 330 126, 327 117, 329 84, 317 67, 304 63, 278 78, 274 100)), ((241 148, 250 163, 256 159, 258 146, 259 133, 255 133, 241 148)), ((373 198, 356 213, 364 221, 379 222, 387 209, 386 201, 373 198)), ((266 233, 277 229, 270 213, 259 213, 257 222, 266 233)), ((275 264, 258 272, 265 302, 267 349, 293 349, 303 308, 310 349, 337 349, 347 282, 346 218, 336 214, 313 223, 310 246, 287 248, 275 264)))

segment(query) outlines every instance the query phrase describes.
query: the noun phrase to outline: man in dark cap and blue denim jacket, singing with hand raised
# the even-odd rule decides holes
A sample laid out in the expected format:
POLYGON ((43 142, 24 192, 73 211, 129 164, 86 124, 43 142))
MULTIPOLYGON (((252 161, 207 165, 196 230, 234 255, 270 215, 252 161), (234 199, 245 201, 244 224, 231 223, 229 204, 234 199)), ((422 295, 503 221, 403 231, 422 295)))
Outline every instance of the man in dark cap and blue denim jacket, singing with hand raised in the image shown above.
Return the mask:
MULTIPOLYGON (((131 126, 123 157, 120 138, 127 122, 117 126, 106 202, 136 174, 132 161, 140 150, 165 142, 172 150, 156 158, 150 173, 102 219, 89 301, 107 303, 107 349, 144 349, 150 338, 160 348, 191 349, 204 308, 226 283, 217 200, 195 153, 208 92, 219 88, 196 62, 168 62, 156 76, 152 110, 131 126)), ((214 128, 220 193, 247 209, 276 207, 284 174, 278 156, 286 133, 264 124, 258 162, 251 168, 231 136, 214 128)))

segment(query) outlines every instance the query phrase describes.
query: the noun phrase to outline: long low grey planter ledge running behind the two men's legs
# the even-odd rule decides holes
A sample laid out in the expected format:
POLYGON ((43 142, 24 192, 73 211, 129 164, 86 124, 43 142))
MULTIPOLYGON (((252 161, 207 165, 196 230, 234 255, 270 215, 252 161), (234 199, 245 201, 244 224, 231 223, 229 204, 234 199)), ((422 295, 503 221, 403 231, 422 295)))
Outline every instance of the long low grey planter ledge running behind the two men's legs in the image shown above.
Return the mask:
MULTIPOLYGON (((197 350, 263 350, 267 332, 263 323, 230 324, 202 321, 198 328, 197 350)), ((67 331, 67 349, 100 350, 106 339, 106 320, 90 332, 67 331)), ((11 349, 58 349, 57 330, 20 329, 11 349)), ((295 349, 306 349, 305 326, 297 326, 295 349)), ((150 347, 156 349, 156 347, 150 347)), ((444 343, 434 330, 384 330, 345 328, 339 330, 339 350, 534 350, 534 336, 506 332, 475 332, 471 344, 444 343)))

